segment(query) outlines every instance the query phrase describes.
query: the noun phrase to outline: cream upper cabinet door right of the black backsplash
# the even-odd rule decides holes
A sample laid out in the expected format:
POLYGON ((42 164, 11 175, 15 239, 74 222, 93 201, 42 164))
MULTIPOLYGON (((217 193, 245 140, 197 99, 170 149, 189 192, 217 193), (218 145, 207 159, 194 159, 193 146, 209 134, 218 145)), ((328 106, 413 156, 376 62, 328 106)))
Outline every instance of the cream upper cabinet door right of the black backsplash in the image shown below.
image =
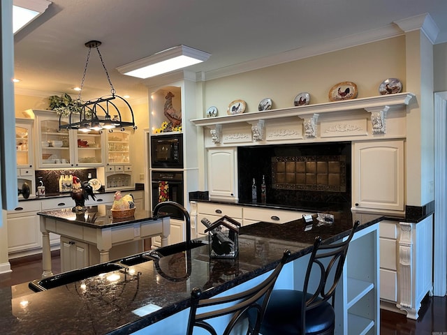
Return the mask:
POLYGON ((404 213, 404 140, 353 142, 353 209, 404 213))

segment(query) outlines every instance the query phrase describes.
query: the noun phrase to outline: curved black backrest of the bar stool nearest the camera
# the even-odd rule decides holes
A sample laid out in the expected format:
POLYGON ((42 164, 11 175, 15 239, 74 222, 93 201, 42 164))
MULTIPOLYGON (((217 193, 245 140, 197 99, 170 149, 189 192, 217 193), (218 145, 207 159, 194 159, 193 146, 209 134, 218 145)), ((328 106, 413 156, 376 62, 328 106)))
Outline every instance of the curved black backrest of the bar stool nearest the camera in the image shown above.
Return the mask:
POLYGON ((226 297, 201 299, 202 291, 200 288, 193 288, 191 291, 191 310, 189 313, 186 335, 192 335, 194 327, 203 328, 210 334, 217 335, 214 327, 212 327, 212 325, 206 320, 217 318, 222 315, 232 314, 230 322, 228 322, 225 331, 222 333, 223 335, 230 334, 233 327, 235 327, 240 320, 247 317, 247 311, 250 311, 250 315, 256 315, 256 324, 252 326, 252 328, 248 325, 249 322, 247 322, 247 325, 250 328, 247 334, 258 335, 259 328, 261 327, 261 321, 265 308, 267 307, 270 294, 272 293, 274 283, 276 282, 279 272, 281 271, 283 265, 287 262, 290 255, 290 251, 284 251, 284 255, 281 258, 279 265, 275 267, 272 274, 270 274, 262 283, 259 283, 254 288, 250 288, 244 292, 235 293, 226 297), (229 303, 233 303, 233 301, 235 301, 235 304, 228 306, 229 303), (209 311, 210 308, 207 308, 207 311, 197 313, 200 308, 208 306, 216 306, 217 308, 213 309, 212 311, 209 311))

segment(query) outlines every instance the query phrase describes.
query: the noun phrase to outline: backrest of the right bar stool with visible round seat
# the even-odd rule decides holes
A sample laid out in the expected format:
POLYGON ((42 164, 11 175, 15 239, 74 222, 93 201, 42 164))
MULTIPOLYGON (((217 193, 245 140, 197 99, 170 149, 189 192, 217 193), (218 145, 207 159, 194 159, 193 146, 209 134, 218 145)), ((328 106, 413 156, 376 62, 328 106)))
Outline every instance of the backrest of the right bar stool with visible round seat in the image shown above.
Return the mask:
POLYGON ((342 276, 346 253, 348 253, 348 246, 359 224, 359 221, 354 223, 349 237, 343 242, 321 245, 321 238, 316 237, 309 264, 307 265, 305 282, 302 290, 304 297, 309 294, 312 295, 312 297, 309 297, 308 299, 302 299, 301 311, 303 329, 305 329, 306 311, 316 308, 330 299, 332 300, 333 306, 335 288, 337 288, 342 276), (313 269, 315 270, 315 265, 316 271, 312 271, 313 269), (310 282, 311 275, 313 275, 312 283, 310 282), (318 277, 317 280, 315 280, 316 277, 318 277), (312 292, 308 292, 309 283, 312 284, 312 287, 316 284, 316 289, 312 289, 312 292))

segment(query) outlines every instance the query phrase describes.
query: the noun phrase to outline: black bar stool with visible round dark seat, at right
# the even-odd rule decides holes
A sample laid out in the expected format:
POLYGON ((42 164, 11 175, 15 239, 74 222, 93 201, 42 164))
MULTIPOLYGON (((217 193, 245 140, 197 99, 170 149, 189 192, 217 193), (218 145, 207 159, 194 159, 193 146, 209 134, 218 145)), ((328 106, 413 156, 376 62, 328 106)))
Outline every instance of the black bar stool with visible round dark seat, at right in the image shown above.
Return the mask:
MULTIPOLYGON (((259 331, 261 334, 334 334, 335 288, 342 276, 349 242, 359 224, 358 221, 354 223, 349 238, 344 242, 321 245, 321 238, 315 239, 302 291, 272 291, 259 331), (313 267, 316 267, 316 271, 312 271, 313 267), (319 278, 316 278, 317 276, 319 278), (316 290, 309 292, 309 279, 311 278, 311 285, 318 285, 316 285, 316 290)), ((250 322, 253 325, 256 322, 251 319, 251 315, 250 322)))

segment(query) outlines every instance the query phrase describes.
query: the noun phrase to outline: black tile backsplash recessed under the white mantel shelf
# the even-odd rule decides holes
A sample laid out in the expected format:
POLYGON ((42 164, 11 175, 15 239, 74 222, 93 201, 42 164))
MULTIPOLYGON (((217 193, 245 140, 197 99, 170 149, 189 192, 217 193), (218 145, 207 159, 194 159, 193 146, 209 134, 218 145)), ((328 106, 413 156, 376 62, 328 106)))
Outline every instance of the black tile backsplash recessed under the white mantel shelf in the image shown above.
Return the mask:
POLYGON ((293 206, 304 201, 350 204, 351 142, 238 147, 237 173, 241 202, 251 201, 253 179, 256 180, 258 188, 257 198, 261 199, 261 181, 264 175, 266 202, 270 204, 293 206), (284 161, 284 174, 277 174, 278 166, 274 165, 277 161, 284 161), (342 169, 336 163, 337 161, 343 162, 342 169), (298 164, 296 164, 297 162, 298 164), (304 162, 304 164, 301 162, 304 162), (306 162, 309 162, 307 163, 308 166, 306 166, 306 162), (288 166, 286 166, 286 163, 288 163, 288 166), (337 164, 337 167, 334 167, 335 164, 337 164), (314 172, 312 172, 312 168, 314 168, 314 172), (330 173, 334 169, 337 170, 337 174, 330 173), (323 170, 325 173, 321 173, 323 170), (340 184, 340 176, 344 180, 342 181, 343 186, 339 187, 338 190, 330 188, 331 191, 327 191, 324 187, 305 186, 307 182, 318 184, 318 179, 322 184, 340 184), (284 178, 281 179, 280 188, 277 187, 278 183, 274 184, 278 177, 284 178), (306 177, 308 181, 306 181, 306 177), (312 181, 312 178, 315 181, 312 181), (316 191, 316 188, 318 188, 318 191, 316 191))

